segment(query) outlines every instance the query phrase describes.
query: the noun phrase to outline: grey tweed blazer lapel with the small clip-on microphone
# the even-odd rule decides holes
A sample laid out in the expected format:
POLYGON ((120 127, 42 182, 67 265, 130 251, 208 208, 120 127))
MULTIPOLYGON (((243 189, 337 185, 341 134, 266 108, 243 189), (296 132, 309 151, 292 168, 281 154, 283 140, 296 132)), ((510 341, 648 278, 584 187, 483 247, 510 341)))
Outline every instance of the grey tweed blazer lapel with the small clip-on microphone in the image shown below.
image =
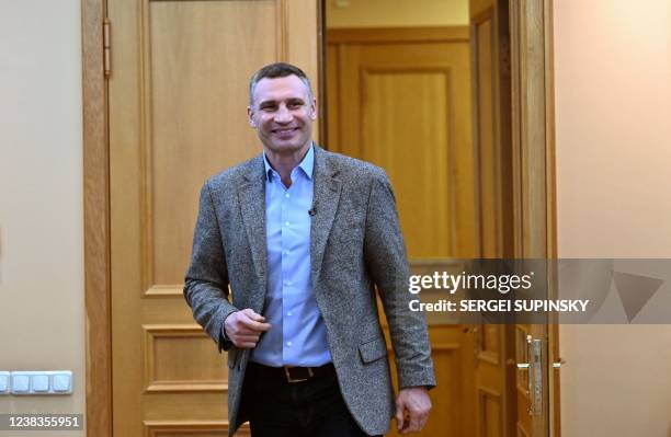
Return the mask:
POLYGON ((315 185, 312 191, 312 222, 310 226, 310 267, 312 284, 321 273, 323 251, 326 249, 338 202, 340 200, 341 182, 336 179, 339 169, 331 165, 328 154, 315 146, 315 185))

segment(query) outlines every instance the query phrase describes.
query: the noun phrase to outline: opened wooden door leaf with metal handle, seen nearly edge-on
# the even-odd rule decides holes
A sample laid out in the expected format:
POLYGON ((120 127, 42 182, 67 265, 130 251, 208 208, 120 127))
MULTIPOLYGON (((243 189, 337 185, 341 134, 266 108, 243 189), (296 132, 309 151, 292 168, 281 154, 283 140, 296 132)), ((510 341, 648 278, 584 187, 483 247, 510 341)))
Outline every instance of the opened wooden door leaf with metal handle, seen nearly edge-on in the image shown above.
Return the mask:
MULTIPOLYGON (((484 258, 541 256, 525 253, 515 239, 515 162, 511 81, 510 4, 508 0, 470 0, 474 83, 474 148, 478 217, 478 255, 484 258)), ((516 106, 519 107, 519 106, 516 106)), ((528 205, 524 207, 528 208, 528 205)), ((526 223, 525 226, 528 226, 526 223)), ((471 327, 476 355, 477 437, 545 437, 547 406, 534 411, 534 341, 547 345, 546 326, 482 324, 471 327), (530 343, 531 342, 531 343, 530 343)), ((544 356, 547 356, 545 354, 544 356)), ((537 379, 537 376, 536 376, 537 379)), ((547 393, 547 390, 543 390, 547 393)), ((547 405, 547 398, 543 401, 547 405)))

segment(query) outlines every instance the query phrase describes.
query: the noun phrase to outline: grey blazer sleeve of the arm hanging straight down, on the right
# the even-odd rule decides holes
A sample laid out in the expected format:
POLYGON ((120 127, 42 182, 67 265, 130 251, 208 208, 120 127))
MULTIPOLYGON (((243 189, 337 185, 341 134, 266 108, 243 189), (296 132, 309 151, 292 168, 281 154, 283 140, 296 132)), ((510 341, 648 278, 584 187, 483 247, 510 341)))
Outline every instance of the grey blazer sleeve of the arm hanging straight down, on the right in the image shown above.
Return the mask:
POLYGON ((371 184, 364 256, 389 323, 399 387, 435 387, 427 321, 409 307, 410 268, 391 184, 382 170, 371 184))

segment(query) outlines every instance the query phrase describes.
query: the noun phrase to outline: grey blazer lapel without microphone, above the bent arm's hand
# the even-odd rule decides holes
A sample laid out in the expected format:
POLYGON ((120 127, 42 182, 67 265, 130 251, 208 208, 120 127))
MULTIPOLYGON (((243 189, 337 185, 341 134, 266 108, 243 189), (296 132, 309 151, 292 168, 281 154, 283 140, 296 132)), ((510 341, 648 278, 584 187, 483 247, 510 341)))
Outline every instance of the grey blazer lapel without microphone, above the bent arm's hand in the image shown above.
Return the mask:
POLYGON ((265 241, 265 180, 264 180, 263 156, 250 161, 244 182, 238 187, 238 200, 242 212, 244 232, 254 264, 254 272, 259 277, 261 286, 258 294, 253 296, 253 310, 261 312, 265 299, 268 284, 268 255, 265 241))

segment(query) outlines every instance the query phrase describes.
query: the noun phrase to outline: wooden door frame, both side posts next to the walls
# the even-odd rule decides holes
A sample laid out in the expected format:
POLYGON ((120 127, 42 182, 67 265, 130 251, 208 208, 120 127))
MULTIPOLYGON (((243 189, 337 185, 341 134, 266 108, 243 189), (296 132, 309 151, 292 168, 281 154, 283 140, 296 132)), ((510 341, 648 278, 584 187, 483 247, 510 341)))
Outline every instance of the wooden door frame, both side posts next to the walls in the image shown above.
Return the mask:
MULTIPOLYGON (((319 34, 323 35, 325 0, 316 1, 319 34)), ((106 0, 81 0, 86 422, 87 433, 96 437, 112 437, 110 143, 103 64, 106 4, 106 0)), ((514 234, 520 257, 557 256, 551 8, 553 0, 511 0, 510 8, 514 234)), ((318 41, 318 50, 323 77, 323 39, 318 41)), ((558 327, 548 331, 551 363, 558 359, 558 327)), ((549 373, 550 409, 556 413, 550 415, 550 435, 558 437, 556 373, 549 373)))

